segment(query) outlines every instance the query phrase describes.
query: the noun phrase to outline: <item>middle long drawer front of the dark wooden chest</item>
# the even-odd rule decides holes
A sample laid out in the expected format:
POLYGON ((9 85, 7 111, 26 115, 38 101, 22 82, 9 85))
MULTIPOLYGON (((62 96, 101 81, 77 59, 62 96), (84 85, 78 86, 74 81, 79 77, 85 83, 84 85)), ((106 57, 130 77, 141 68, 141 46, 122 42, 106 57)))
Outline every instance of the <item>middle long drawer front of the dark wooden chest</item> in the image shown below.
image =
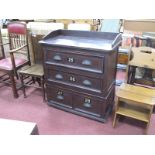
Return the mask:
POLYGON ((58 70, 51 70, 50 67, 47 67, 47 80, 58 81, 66 84, 74 85, 75 87, 81 87, 84 89, 95 89, 98 92, 101 92, 102 81, 100 79, 91 78, 87 76, 66 73, 58 70))

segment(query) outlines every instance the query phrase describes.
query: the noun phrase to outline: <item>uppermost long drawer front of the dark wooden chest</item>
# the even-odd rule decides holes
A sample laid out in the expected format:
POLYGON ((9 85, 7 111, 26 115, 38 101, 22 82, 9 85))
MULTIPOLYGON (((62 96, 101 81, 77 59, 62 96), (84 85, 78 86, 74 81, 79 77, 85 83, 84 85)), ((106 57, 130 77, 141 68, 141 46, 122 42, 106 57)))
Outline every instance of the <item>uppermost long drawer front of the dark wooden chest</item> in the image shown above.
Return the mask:
POLYGON ((78 52, 77 54, 69 53, 67 50, 62 52, 61 50, 46 49, 45 61, 46 63, 64 64, 103 73, 104 57, 78 54, 78 52))

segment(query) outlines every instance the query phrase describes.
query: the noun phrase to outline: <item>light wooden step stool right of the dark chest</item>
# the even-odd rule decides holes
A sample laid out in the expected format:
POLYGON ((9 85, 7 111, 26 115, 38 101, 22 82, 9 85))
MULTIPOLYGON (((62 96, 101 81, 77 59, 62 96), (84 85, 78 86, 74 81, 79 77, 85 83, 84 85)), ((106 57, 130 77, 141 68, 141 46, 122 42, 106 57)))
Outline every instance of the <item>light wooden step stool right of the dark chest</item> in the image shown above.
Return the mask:
POLYGON ((116 92, 113 127, 118 115, 126 116, 146 122, 147 134, 154 105, 155 90, 123 83, 116 92))

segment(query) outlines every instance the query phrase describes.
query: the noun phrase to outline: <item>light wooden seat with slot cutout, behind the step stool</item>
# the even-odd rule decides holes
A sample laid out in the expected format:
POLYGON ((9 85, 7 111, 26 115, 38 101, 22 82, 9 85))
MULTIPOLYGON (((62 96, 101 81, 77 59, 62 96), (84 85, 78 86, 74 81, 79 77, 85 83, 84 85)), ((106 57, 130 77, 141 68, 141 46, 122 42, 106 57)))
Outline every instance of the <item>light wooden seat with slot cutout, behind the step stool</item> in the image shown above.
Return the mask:
POLYGON ((131 52, 132 57, 128 62, 127 83, 155 87, 155 81, 152 77, 152 71, 155 70, 155 49, 147 46, 132 47, 131 52))

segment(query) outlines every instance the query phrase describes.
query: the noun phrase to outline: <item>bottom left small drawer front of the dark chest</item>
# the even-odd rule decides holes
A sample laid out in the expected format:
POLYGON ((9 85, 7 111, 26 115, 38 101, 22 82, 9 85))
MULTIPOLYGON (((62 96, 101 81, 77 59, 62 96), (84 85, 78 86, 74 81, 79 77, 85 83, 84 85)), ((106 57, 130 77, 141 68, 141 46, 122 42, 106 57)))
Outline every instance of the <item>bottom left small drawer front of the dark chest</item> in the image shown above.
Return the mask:
POLYGON ((56 104, 72 108, 72 94, 65 89, 47 84, 47 100, 54 101, 56 104))

